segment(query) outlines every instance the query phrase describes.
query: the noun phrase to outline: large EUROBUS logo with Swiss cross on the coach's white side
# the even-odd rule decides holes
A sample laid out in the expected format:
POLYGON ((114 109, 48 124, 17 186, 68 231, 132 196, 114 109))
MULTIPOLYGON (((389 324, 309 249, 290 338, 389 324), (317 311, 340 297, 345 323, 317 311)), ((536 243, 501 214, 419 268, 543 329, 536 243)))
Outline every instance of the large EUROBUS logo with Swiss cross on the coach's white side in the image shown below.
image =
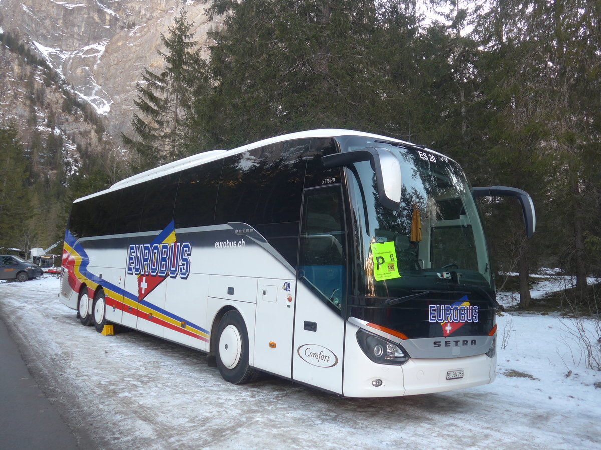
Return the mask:
POLYGON ((190 242, 177 242, 171 222, 150 244, 127 249, 127 274, 138 277, 138 301, 142 301, 167 277, 186 280, 190 275, 190 242))

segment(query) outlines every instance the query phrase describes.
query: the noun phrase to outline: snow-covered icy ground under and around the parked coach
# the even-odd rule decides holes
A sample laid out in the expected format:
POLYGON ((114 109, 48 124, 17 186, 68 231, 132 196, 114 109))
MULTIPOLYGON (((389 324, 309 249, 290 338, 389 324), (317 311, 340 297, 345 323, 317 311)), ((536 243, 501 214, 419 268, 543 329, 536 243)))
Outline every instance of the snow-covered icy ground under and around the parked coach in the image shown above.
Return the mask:
POLYGON ((492 385, 356 400, 270 376, 231 385, 201 353, 84 328, 57 293, 48 275, 0 282, 0 315, 47 397, 97 448, 601 448, 601 372, 557 316, 498 317, 492 385))

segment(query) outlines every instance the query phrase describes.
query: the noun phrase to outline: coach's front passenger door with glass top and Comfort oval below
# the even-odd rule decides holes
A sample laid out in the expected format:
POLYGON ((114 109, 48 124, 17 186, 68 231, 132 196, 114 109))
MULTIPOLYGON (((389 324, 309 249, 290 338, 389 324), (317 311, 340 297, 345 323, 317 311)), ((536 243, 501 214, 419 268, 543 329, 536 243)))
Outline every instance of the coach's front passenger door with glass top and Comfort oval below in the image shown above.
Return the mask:
POLYGON ((293 379, 342 394, 346 247, 340 185, 305 190, 293 379))

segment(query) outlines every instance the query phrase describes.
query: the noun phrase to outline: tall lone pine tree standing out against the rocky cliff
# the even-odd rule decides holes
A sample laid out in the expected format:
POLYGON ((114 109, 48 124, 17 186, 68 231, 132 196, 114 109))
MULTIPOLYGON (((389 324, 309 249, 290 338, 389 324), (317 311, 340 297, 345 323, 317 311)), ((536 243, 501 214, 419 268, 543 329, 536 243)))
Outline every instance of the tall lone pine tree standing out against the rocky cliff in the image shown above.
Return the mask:
POLYGON ((193 26, 182 10, 169 27, 169 35, 161 34, 165 52, 158 53, 165 61, 165 69, 160 74, 145 69, 142 81, 136 84, 138 97, 134 103, 139 112, 132 118, 136 138, 122 135, 122 139, 141 158, 141 169, 182 156, 182 123, 189 114, 200 64, 198 49, 195 50, 198 44, 191 33, 193 26))

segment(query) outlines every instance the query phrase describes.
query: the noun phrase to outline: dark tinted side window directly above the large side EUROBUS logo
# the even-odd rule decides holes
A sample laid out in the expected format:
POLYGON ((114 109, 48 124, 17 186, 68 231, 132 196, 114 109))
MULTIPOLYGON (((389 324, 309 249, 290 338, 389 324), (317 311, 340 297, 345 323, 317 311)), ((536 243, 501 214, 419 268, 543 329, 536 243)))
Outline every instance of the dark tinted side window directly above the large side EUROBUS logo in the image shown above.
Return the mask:
POLYGON ((163 230, 171 223, 179 181, 180 174, 174 173, 147 183, 141 232, 163 230))

